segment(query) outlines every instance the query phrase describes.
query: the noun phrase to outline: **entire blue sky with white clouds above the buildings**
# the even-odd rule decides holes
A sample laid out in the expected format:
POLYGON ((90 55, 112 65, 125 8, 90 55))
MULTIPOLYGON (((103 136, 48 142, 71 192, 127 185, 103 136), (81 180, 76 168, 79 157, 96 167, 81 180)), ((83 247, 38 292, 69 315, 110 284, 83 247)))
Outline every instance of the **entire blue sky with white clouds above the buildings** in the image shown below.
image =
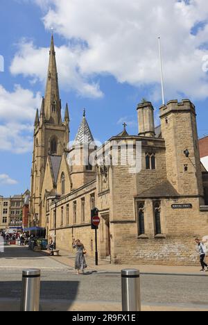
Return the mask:
POLYGON ((51 27, 71 140, 84 107, 101 142, 121 132, 123 122, 128 133, 138 133, 136 108, 144 97, 153 101, 159 124, 158 35, 166 101, 191 99, 199 137, 208 134, 206 1, 1 0, 0 12, 0 195, 30 188, 33 122, 44 96, 51 27))

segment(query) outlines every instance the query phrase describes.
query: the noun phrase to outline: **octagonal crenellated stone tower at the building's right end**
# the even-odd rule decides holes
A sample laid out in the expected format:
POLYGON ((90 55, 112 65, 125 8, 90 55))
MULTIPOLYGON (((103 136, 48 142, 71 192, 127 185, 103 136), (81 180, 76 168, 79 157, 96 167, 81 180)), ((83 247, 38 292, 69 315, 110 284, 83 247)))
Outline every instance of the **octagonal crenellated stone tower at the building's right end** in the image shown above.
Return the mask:
POLYGON ((169 101, 160 108, 160 118, 168 181, 180 195, 198 197, 203 205, 195 106, 188 99, 181 103, 169 101))

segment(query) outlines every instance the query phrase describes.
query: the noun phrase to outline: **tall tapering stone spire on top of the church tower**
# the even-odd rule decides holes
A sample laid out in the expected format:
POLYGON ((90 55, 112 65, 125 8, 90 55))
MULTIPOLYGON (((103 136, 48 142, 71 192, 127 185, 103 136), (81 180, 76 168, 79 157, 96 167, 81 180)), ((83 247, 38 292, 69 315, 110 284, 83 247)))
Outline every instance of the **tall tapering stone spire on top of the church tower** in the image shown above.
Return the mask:
POLYGON ((49 69, 44 100, 45 117, 46 121, 51 124, 62 124, 61 102, 58 88, 58 72, 55 60, 53 35, 51 37, 51 49, 49 53, 49 69))

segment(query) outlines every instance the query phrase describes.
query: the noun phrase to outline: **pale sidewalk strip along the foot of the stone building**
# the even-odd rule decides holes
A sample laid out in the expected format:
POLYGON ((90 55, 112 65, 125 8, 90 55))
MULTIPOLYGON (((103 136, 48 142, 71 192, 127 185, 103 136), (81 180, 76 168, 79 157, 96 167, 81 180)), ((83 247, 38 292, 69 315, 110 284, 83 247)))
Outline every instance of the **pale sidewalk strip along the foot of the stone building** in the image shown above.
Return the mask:
MULTIPOLYGON (((46 251, 42 253, 48 254, 46 251)), ((66 265, 67 267, 74 267, 76 253, 69 253, 68 251, 60 250, 60 256, 51 256, 51 258, 57 262, 66 265)), ((135 268, 139 269, 141 273, 144 274, 183 274, 183 275, 198 275, 198 276, 208 276, 208 273, 200 273, 200 262, 198 267, 190 266, 169 266, 169 265, 114 265, 110 264, 107 260, 99 260, 98 266, 95 265, 94 258, 86 256, 87 261, 87 271, 88 272, 110 272, 110 273, 120 273, 121 269, 135 268)))

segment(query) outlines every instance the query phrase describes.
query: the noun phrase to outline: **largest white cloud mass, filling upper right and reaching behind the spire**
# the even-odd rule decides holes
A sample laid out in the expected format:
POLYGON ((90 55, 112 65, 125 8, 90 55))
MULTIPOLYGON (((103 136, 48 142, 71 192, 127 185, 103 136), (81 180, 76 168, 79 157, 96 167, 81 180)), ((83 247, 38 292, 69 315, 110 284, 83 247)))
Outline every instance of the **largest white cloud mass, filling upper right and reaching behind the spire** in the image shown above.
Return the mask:
MULTIPOLYGON (((101 97, 99 86, 89 83, 89 78, 112 74, 120 83, 151 85, 155 99, 161 97, 157 45, 160 35, 168 99, 182 93, 191 99, 207 97, 208 75, 202 71, 202 58, 207 51, 202 44, 207 42, 208 23, 198 28, 196 35, 191 33, 194 26, 208 19, 207 0, 35 2, 44 7, 46 28, 53 26, 65 39, 76 40, 73 47, 57 49, 60 81, 65 87, 84 96, 101 97)), ((46 49, 35 49, 33 44, 21 44, 11 71, 43 79, 45 53, 46 49)))

